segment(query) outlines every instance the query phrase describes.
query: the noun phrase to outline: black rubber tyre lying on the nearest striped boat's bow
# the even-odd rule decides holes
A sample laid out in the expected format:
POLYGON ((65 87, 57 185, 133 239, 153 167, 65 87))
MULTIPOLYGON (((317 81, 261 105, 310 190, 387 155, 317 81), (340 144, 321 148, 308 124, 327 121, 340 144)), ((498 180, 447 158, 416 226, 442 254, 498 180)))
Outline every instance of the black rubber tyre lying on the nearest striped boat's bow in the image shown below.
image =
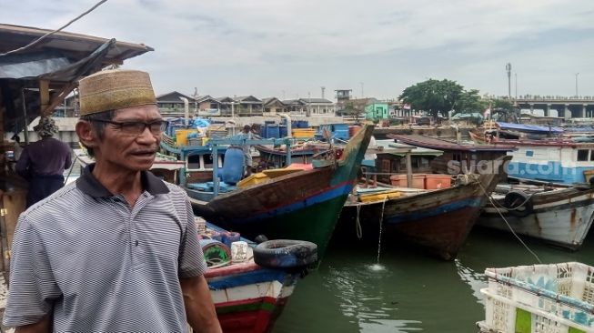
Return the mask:
POLYGON ((267 240, 254 248, 254 261, 270 268, 305 267, 317 261, 317 245, 305 240, 267 240))

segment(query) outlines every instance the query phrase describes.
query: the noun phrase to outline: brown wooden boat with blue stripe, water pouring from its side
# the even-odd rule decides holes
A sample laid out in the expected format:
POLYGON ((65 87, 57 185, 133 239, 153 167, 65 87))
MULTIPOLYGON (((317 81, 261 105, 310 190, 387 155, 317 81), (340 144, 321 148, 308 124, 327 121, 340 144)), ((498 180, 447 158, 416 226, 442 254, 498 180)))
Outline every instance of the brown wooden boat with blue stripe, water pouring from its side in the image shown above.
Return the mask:
POLYGON ((400 196, 394 196, 390 188, 387 197, 376 201, 349 200, 343 208, 341 223, 357 219, 362 228, 367 225, 377 228, 381 220, 382 237, 403 239, 452 260, 475 225, 488 194, 505 177, 503 165, 508 159, 502 156, 493 161, 492 172, 455 176, 452 187, 399 188, 400 196))

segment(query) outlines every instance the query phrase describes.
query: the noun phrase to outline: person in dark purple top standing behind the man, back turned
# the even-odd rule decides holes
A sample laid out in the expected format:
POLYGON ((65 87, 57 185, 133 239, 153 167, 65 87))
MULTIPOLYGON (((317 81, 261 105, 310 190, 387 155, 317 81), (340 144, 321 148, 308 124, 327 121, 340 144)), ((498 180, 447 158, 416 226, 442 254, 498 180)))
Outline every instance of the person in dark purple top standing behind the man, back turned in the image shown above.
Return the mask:
POLYGON ((52 137, 58 131, 54 119, 42 117, 33 129, 41 140, 25 146, 15 165, 16 173, 29 183, 26 207, 64 187, 64 170, 72 165, 70 147, 52 137))

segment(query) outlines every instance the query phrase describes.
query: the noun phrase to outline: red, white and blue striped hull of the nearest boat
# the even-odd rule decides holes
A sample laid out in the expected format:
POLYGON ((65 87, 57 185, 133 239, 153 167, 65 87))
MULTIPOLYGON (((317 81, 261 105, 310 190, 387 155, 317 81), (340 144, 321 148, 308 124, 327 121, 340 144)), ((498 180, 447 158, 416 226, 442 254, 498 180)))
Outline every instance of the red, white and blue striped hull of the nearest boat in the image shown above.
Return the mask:
POLYGON ((224 332, 270 331, 299 274, 257 266, 253 261, 209 269, 206 280, 224 332))

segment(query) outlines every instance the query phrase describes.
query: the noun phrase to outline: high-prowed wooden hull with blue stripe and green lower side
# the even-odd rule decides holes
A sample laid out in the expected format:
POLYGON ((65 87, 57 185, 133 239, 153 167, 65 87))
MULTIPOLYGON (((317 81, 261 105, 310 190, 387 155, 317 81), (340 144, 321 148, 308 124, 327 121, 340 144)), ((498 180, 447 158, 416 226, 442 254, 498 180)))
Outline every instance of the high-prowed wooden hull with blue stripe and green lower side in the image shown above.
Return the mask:
POLYGON ((195 213, 247 237, 303 239, 323 257, 373 133, 364 126, 342 155, 314 160, 313 168, 237 188, 212 200, 191 199, 195 213))

